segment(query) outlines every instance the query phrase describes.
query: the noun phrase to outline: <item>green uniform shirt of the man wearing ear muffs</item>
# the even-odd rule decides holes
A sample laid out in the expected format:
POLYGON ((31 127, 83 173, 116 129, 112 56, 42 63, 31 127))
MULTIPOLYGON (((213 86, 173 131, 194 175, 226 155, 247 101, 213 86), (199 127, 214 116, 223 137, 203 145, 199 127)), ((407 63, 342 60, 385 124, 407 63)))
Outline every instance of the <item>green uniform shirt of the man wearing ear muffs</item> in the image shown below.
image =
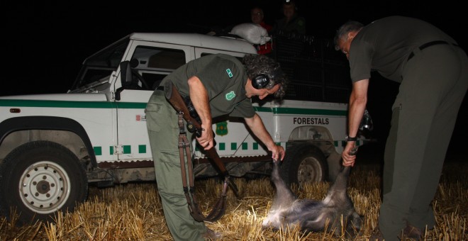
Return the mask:
POLYGON ((234 116, 251 118, 255 114, 252 102, 245 96, 247 73, 244 65, 230 55, 206 55, 182 65, 162 80, 172 81, 182 97, 189 96, 187 80, 196 76, 208 91, 212 118, 234 116))

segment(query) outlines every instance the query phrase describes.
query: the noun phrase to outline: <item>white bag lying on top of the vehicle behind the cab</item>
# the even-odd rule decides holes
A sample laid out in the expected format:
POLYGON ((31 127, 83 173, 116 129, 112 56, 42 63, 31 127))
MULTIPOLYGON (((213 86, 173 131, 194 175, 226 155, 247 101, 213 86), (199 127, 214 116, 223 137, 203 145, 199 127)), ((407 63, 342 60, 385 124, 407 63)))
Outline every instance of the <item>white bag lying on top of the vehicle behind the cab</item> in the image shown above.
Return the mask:
POLYGON ((240 23, 230 30, 230 34, 238 35, 256 45, 264 45, 272 39, 268 36, 268 31, 257 23, 240 23))

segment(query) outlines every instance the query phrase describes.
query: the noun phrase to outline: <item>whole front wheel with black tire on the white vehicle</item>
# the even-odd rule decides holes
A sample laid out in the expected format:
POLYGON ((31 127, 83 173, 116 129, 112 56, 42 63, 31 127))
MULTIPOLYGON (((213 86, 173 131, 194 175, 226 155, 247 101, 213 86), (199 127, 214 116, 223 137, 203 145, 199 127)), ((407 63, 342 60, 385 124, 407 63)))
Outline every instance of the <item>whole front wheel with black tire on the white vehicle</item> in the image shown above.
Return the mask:
POLYGON ((55 142, 23 144, 0 165, 0 212, 9 217, 10 208, 16 208, 18 224, 53 222, 57 211, 73 211, 87 196, 84 167, 76 155, 55 142))

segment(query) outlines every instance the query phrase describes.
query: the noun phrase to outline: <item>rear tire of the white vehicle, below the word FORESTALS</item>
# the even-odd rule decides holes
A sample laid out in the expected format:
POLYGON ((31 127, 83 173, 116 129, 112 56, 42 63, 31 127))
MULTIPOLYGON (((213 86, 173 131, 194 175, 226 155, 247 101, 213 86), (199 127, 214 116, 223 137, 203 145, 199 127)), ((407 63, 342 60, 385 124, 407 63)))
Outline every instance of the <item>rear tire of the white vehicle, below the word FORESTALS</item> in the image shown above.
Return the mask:
POLYGON ((286 150, 280 169, 286 184, 299 184, 325 181, 328 165, 320 149, 313 145, 294 145, 286 150))

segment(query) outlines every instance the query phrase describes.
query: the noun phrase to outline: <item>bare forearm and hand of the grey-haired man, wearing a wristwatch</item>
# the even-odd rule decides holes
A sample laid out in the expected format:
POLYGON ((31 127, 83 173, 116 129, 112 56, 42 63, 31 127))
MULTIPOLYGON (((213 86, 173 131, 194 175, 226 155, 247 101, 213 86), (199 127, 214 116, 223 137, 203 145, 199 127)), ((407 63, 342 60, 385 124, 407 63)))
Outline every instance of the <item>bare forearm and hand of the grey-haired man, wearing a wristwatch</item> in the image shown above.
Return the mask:
MULTIPOLYGON (((369 87, 369 79, 362 79, 352 83, 352 91, 350 96, 350 106, 348 112, 348 135, 355 137, 361 123, 362 115, 367 104, 367 89, 369 87)), ((352 148, 356 146, 356 142, 347 142, 345 150, 341 157, 343 158, 344 166, 354 166, 356 156, 350 155, 352 148)))

